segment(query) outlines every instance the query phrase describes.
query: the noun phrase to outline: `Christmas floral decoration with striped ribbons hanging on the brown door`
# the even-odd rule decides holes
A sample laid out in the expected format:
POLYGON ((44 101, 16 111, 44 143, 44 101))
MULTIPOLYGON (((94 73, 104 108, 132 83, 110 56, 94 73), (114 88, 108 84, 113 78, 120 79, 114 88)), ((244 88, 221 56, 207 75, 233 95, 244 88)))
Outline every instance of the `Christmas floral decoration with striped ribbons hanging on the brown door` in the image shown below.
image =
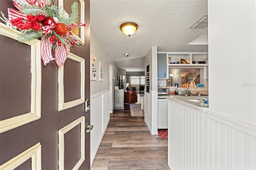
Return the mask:
POLYGON ((8 27, 23 33, 18 37, 20 42, 41 40, 41 58, 44 65, 55 60, 61 68, 71 45, 80 44, 72 34, 72 28, 85 26, 82 22, 76 24, 77 2, 71 6, 71 15, 68 15, 62 7, 57 8, 51 0, 13 0, 13 4, 18 10, 8 8, 8 18, 4 14, 0 18, 8 27))

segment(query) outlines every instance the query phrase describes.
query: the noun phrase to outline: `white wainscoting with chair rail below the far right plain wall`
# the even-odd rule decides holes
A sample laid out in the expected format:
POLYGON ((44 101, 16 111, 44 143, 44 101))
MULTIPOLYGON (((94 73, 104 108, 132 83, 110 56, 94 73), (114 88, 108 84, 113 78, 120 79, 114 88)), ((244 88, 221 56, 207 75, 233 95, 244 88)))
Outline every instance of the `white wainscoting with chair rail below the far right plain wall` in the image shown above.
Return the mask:
POLYGON ((207 169, 255 170, 255 127, 207 111, 207 169))

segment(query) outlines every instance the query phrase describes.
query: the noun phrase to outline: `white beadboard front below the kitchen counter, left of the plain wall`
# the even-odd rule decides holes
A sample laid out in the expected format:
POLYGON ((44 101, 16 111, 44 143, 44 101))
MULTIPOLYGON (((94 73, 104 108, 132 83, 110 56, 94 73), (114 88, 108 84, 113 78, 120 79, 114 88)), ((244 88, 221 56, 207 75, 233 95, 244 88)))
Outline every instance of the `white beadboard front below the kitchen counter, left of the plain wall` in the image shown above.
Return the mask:
POLYGON ((169 100, 168 165, 171 170, 205 170, 205 113, 169 100))

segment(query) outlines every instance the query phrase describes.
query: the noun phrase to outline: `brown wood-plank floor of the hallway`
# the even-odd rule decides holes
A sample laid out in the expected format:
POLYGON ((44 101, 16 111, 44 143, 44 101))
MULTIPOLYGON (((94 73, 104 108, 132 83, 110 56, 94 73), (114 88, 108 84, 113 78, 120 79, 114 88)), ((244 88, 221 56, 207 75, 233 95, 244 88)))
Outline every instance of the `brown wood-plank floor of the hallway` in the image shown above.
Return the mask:
POLYGON ((129 105, 114 110, 91 170, 170 170, 167 143, 151 135, 144 117, 131 117, 129 105))

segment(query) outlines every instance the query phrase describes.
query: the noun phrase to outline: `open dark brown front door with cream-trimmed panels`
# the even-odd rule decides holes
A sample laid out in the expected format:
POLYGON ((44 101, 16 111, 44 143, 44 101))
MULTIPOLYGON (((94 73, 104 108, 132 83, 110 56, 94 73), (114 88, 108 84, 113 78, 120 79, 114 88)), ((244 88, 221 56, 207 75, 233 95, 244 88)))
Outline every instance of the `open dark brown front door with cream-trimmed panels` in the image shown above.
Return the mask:
MULTIPOLYGON (((90 0, 84 1, 85 43, 72 46, 70 53, 84 59, 85 74, 81 77, 80 62, 66 60, 64 103, 81 98, 83 78, 84 99, 90 99, 90 0)), ((0 0, 6 17, 8 8, 16 9, 13 1, 0 0)), ((84 103, 58 111, 58 66, 39 59, 40 67, 33 68, 38 61, 31 59, 33 50, 33 45, 0 35, 0 169, 20 164, 16 169, 68 170, 80 162, 79 169, 89 170, 90 133, 82 128, 86 122, 90 125, 90 112, 84 103)))

